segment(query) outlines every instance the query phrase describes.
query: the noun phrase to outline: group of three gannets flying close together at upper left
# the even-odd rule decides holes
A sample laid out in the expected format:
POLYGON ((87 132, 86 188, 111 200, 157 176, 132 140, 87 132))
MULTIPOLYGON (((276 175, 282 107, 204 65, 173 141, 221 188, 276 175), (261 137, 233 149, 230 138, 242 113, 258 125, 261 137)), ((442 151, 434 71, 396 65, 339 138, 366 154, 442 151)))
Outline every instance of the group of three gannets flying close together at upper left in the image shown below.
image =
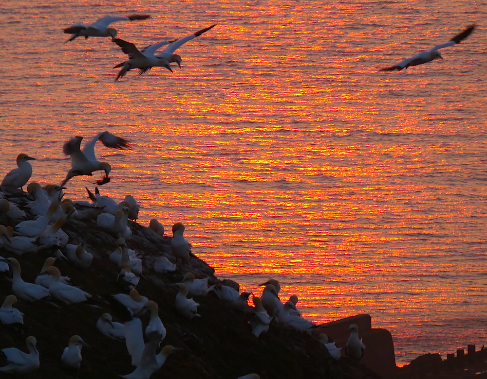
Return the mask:
POLYGON ((181 68, 181 56, 175 54, 174 52, 179 49, 183 44, 190 41, 193 38, 200 36, 201 34, 207 32, 211 28, 215 27, 213 24, 207 28, 201 29, 195 33, 189 34, 185 37, 174 39, 174 40, 162 40, 155 44, 146 46, 145 48, 139 50, 137 47, 128 41, 120 38, 115 38, 117 35, 117 30, 110 28, 110 24, 117 21, 133 21, 133 20, 144 20, 149 18, 150 15, 129 15, 129 16, 105 16, 96 20, 93 24, 77 23, 68 28, 64 29, 64 33, 71 34, 71 37, 67 42, 73 41, 76 37, 83 36, 88 37, 112 37, 112 41, 121 47, 122 52, 128 54, 129 59, 125 62, 115 65, 113 68, 121 67, 118 72, 115 82, 122 78, 127 71, 131 69, 139 69, 138 75, 142 75, 144 72, 150 70, 152 67, 164 67, 169 71, 172 71, 171 62, 175 62, 179 68, 181 68), (168 45, 168 46, 166 46, 168 45), (166 46, 162 52, 157 50, 166 46))

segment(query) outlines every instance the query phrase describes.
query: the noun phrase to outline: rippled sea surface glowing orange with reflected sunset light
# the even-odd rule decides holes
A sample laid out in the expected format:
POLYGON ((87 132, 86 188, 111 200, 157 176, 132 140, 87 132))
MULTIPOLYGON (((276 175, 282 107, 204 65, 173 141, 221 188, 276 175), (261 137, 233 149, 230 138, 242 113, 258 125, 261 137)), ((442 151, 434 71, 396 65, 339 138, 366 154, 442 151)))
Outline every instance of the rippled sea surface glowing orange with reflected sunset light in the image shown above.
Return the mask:
MULTIPOLYGON (((243 288, 268 278, 309 319, 361 312, 396 360, 484 345, 486 19, 481 1, 7 0, 1 6, 0 173, 28 153, 32 180, 61 182, 62 144, 103 130, 104 194, 183 222, 195 254, 243 288), (62 29, 106 14, 143 47, 218 25, 182 69, 132 70, 109 38, 62 29), (378 72, 477 29, 444 60, 378 72)), ((97 177, 97 175, 96 175, 97 177)), ((95 177, 76 177, 85 197, 95 177)))

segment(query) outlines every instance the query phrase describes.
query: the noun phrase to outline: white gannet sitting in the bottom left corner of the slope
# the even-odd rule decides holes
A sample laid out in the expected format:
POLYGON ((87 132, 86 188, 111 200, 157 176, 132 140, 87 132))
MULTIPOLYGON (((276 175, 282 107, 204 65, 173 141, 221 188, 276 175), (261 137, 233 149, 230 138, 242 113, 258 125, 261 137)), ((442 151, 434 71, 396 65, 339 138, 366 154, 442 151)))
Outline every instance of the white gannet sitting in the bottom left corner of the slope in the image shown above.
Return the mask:
POLYGON ((27 345, 29 354, 15 347, 1 349, 7 359, 7 365, 0 367, 0 372, 25 374, 37 370, 39 368, 39 352, 37 351, 36 344, 36 338, 29 336, 25 339, 25 345, 27 345))

